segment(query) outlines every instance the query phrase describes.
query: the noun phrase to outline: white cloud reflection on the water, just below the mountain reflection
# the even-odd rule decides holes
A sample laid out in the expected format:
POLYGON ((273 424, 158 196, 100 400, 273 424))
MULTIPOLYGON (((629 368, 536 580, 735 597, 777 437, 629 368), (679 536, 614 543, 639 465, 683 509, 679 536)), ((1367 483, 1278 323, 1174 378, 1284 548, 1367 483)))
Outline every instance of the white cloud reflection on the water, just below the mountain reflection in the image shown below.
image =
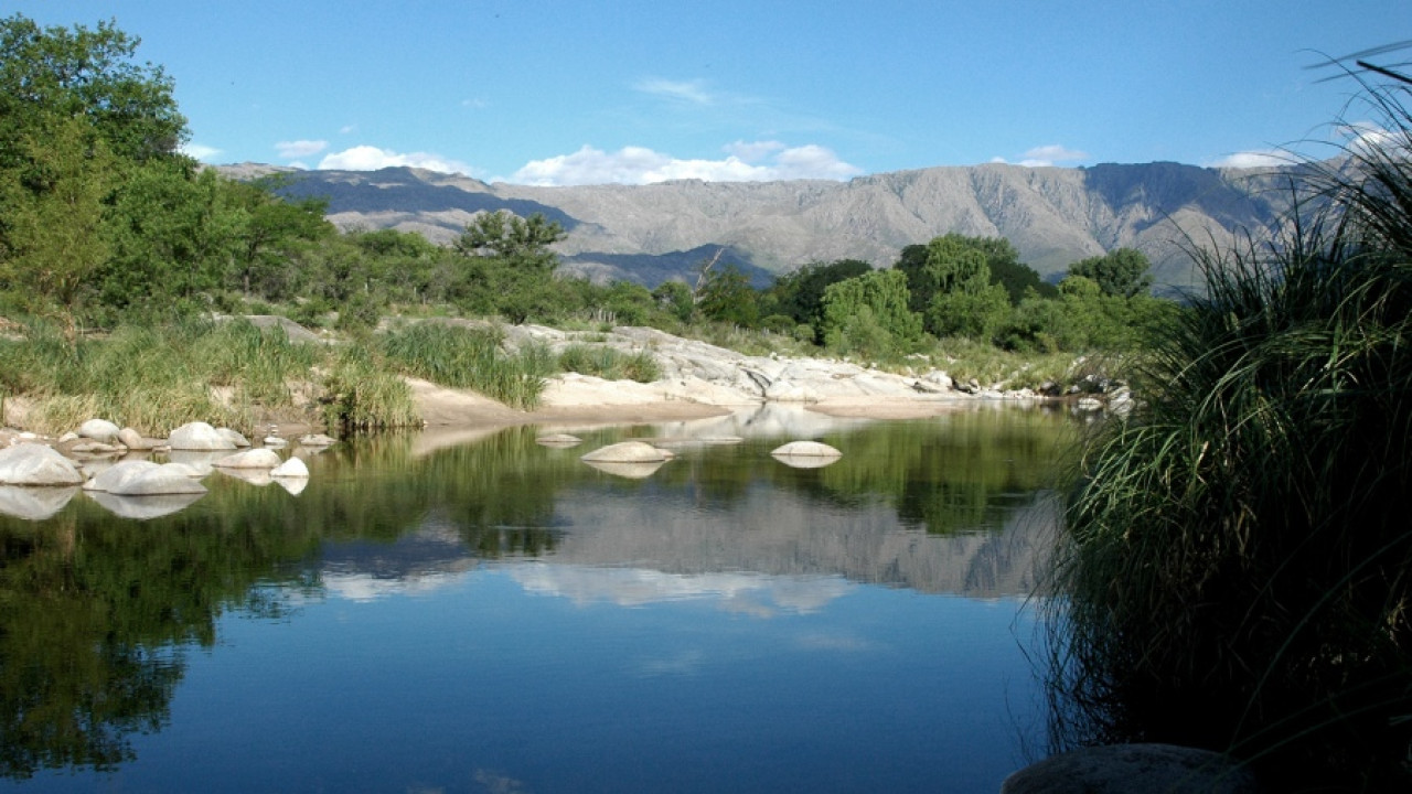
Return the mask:
POLYGON ((532 593, 568 598, 579 605, 645 606, 668 600, 716 600, 727 612, 770 617, 808 615, 853 589, 842 576, 767 576, 761 574, 664 574, 647 568, 515 565, 511 576, 532 593))

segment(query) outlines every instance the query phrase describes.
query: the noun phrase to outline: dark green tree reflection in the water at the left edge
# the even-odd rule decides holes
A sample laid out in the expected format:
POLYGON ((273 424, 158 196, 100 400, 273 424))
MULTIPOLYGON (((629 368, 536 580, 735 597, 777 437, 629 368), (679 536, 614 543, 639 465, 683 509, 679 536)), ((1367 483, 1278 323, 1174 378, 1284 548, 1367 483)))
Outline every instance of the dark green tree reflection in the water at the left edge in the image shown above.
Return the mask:
POLYGON ((193 519, 138 526, 85 502, 0 521, 0 776, 130 760, 126 737, 167 721, 182 648, 213 644, 225 609, 277 609, 251 588, 289 548, 193 519))

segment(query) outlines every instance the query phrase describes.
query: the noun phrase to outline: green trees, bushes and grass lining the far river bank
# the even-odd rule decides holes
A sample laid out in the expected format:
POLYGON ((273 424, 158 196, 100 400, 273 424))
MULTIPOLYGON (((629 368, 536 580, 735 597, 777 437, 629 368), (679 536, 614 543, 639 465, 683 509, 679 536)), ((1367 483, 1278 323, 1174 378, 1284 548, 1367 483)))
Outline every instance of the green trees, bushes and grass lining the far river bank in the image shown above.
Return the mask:
POLYGON ((280 198, 280 177, 237 182, 181 154, 172 82, 134 61, 137 45, 112 23, 0 18, 0 318, 28 328, 23 338, 37 346, 7 349, 10 360, 38 367, 6 374, 4 387, 34 404, 37 428, 92 413, 160 431, 203 411, 247 427, 313 403, 349 428, 398 427, 409 421, 400 374, 522 408, 555 367, 657 377, 650 352, 582 348, 549 360, 501 350, 494 331, 419 319, 650 325, 747 353, 860 357, 894 370, 925 356, 1019 389, 1066 377, 1069 367, 1041 359, 1131 349, 1178 311, 1145 294, 1147 261, 1134 251, 1079 263, 1087 275, 1056 290, 1008 242, 960 235, 908 246, 890 268, 809 263, 765 288, 717 256, 693 285, 648 290, 558 273, 551 246, 565 230, 539 215, 476 215, 450 246, 390 229, 339 232, 325 202, 280 198), (357 350, 297 353, 251 329, 232 331, 244 335, 232 342, 247 352, 239 360, 186 346, 181 336, 215 314, 282 314, 357 350), (387 318, 404 321, 378 331, 387 318), (147 348, 131 339, 148 339, 164 359, 147 366, 147 348), (144 366, 92 372, 120 352, 144 366), (82 363, 62 386, 41 374, 55 356, 82 363), (995 363, 1015 356, 1035 362, 995 363), (1031 377, 1038 370, 1046 374, 1031 377), (306 384, 301 401, 291 403, 291 383, 306 384))

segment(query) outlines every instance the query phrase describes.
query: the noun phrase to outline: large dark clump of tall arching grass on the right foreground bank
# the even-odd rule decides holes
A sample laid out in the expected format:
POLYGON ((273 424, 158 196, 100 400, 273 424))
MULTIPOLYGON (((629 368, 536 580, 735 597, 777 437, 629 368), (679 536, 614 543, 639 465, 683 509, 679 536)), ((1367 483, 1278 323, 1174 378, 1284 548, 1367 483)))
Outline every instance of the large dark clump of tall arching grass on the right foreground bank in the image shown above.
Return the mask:
POLYGON ((1274 242, 1195 253, 1206 295, 1084 452, 1049 608, 1060 745, 1412 787, 1412 122, 1405 89, 1370 96, 1388 137, 1309 164, 1274 242))

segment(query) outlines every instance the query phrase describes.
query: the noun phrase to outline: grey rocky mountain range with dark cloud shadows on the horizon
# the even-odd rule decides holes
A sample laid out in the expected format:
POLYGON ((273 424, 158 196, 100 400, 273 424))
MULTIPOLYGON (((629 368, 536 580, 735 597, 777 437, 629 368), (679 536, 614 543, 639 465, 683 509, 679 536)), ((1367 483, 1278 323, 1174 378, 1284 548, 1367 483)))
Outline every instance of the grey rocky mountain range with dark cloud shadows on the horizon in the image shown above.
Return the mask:
POLYGON ((401 229, 449 242, 477 212, 544 213, 568 239, 568 270, 657 285, 729 249, 757 283, 810 261, 892 264, 938 235, 1003 236, 1041 275, 1084 257, 1134 247, 1159 285, 1189 285, 1183 246, 1227 244, 1262 230, 1288 206, 1282 170, 1217 170, 1176 162, 1027 168, 986 164, 897 171, 849 182, 702 182, 542 188, 487 185, 415 168, 289 171, 222 167, 253 178, 280 171, 292 196, 329 199, 343 229, 401 229))

